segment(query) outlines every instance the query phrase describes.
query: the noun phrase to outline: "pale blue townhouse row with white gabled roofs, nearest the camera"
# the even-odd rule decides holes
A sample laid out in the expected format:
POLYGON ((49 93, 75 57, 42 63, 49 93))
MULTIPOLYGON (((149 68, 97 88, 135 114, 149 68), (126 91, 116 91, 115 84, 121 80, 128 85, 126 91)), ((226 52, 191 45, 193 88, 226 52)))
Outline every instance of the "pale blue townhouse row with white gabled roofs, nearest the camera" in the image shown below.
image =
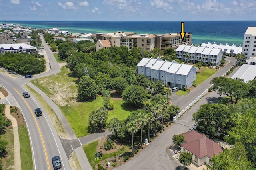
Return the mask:
POLYGON ((143 58, 137 67, 138 74, 143 74, 154 82, 160 80, 168 87, 189 88, 196 80, 196 68, 193 65, 179 64, 175 60, 143 58))

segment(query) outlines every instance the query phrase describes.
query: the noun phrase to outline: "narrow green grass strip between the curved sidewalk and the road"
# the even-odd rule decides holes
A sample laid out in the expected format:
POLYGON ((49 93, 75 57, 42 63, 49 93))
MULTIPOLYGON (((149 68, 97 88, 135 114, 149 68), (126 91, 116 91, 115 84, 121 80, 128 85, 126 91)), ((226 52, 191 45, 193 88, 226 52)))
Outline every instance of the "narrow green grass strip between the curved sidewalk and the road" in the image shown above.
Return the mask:
POLYGON ((21 125, 19 128, 20 138, 20 158, 22 170, 33 170, 33 159, 30 147, 30 141, 26 125, 21 125))

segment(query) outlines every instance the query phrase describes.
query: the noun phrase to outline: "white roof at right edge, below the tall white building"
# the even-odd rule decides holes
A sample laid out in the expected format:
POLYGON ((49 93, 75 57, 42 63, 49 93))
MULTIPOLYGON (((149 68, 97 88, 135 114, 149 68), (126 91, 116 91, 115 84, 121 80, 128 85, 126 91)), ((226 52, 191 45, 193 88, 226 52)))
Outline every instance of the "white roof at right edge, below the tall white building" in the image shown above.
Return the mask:
POLYGON ((256 77, 256 66, 243 64, 231 78, 233 79, 242 78, 244 79, 244 82, 247 83, 250 80, 254 80, 255 77, 256 77))

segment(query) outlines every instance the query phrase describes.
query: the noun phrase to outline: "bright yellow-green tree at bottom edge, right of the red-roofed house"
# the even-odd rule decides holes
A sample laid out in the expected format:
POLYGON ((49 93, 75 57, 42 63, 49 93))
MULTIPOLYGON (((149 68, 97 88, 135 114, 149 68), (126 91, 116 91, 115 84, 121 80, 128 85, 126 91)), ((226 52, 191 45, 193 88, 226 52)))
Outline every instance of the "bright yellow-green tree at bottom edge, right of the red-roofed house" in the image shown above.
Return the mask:
POLYGON ((236 143, 230 149, 225 149, 220 155, 212 157, 212 170, 253 170, 252 163, 246 157, 242 143, 236 143))

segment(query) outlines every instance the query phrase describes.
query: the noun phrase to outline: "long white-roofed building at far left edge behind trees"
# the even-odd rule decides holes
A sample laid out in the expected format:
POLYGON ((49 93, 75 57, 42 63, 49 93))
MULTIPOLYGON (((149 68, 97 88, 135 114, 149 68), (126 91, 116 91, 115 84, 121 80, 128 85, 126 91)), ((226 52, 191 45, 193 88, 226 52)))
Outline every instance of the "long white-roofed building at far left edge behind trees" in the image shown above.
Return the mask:
POLYGON ((22 44, 0 44, 0 54, 4 53, 27 53, 37 51, 36 47, 31 45, 27 45, 25 43, 22 44))

